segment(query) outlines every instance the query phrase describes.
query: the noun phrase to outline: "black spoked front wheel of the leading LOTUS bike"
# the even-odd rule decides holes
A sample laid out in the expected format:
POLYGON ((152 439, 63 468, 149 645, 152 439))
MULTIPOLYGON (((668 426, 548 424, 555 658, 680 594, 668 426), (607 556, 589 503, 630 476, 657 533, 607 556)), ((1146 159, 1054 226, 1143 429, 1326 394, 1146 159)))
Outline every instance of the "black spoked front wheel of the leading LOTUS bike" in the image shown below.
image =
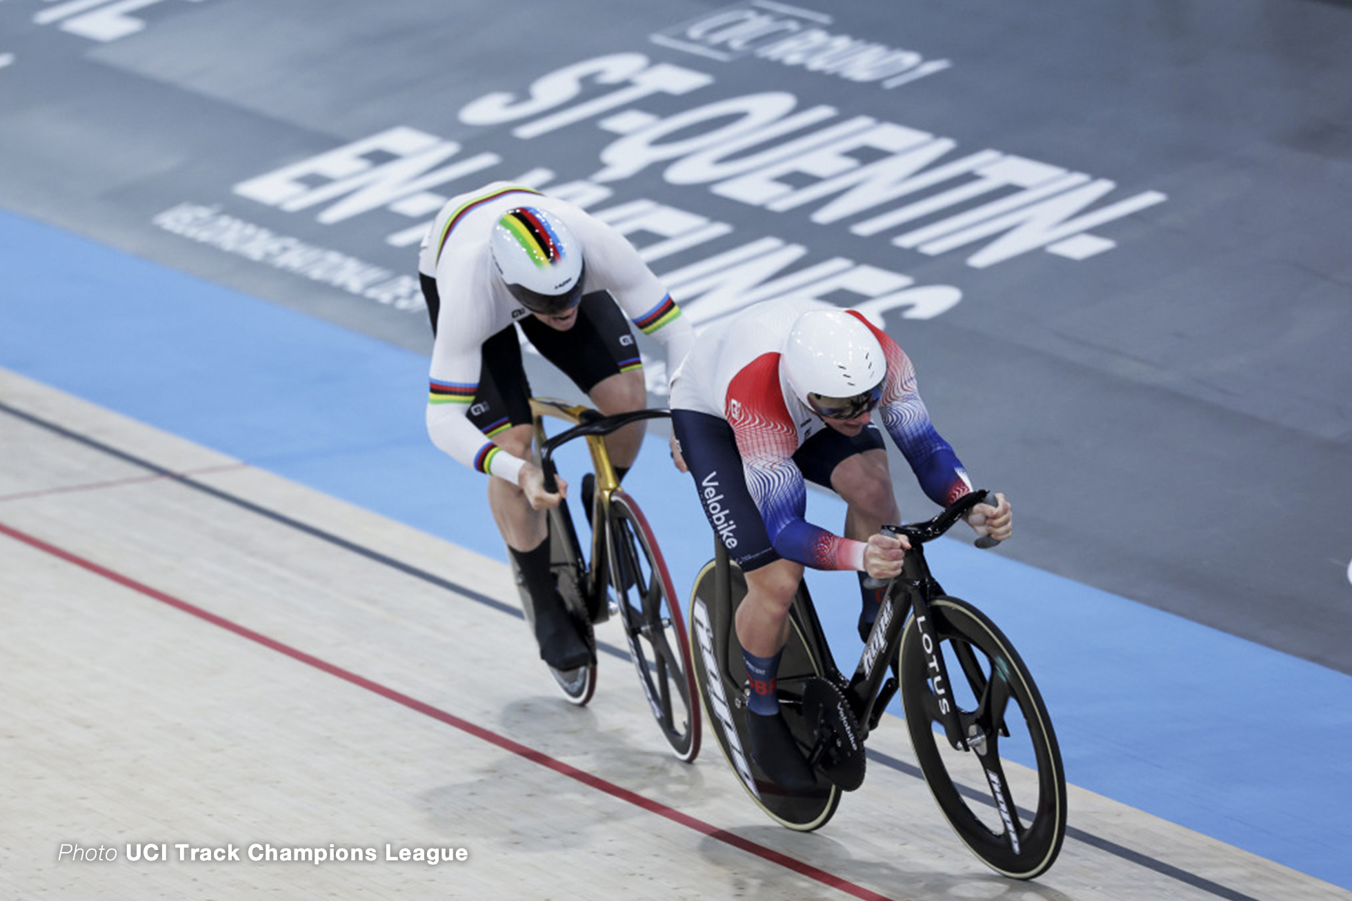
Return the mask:
POLYGON ((1002 875, 1032 879, 1065 839, 1065 770, 1056 733, 1009 639, 957 598, 930 601, 937 648, 925 647, 915 617, 906 624, 898 670, 911 745, 925 781, 959 837, 1002 875), (949 685, 936 685, 930 651, 949 685), (972 749, 953 748, 940 725, 956 705, 972 749))

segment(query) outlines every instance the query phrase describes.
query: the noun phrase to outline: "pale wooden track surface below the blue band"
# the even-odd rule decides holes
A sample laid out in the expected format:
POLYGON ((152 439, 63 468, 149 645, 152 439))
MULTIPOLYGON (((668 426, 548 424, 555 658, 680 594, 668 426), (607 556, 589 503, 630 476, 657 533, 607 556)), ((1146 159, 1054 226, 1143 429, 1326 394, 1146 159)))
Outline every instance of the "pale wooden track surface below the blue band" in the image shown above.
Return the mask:
POLYGON ((1052 871, 1002 879, 900 728, 794 833, 710 736, 694 766, 665 752, 618 653, 566 705, 496 561, 3 369, 0 459, 3 897, 1352 898, 1073 787, 1052 871))

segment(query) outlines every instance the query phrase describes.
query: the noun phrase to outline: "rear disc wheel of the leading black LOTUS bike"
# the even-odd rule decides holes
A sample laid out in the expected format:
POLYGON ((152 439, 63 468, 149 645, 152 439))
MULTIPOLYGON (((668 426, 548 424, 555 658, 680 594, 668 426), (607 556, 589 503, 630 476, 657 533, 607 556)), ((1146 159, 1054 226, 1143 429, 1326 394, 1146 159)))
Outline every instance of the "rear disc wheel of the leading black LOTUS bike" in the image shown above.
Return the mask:
MULTIPOLYGON (((710 560, 695 578, 690 602, 691 664, 707 722, 752 801, 780 825, 808 832, 831 818, 840 806, 841 790, 818 774, 817 785, 810 791, 792 794, 771 782, 752 762, 746 751, 746 664, 733 629, 733 614, 746 597, 746 579, 731 563, 727 564, 727 574, 730 593, 719 602, 718 567, 710 560)), ((804 686, 810 678, 822 674, 811 647, 795 611, 776 685, 784 720, 803 748, 810 748, 814 741, 811 728, 803 718, 804 686)))

